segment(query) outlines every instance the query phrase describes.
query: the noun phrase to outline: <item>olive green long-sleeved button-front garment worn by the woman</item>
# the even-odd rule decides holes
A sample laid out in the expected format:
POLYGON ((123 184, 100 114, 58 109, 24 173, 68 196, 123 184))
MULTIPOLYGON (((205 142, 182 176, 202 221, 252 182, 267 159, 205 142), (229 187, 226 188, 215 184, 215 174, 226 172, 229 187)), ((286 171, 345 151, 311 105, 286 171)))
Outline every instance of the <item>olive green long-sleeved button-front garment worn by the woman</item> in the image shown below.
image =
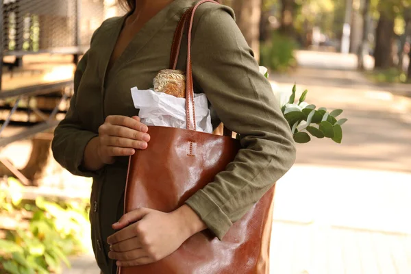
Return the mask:
MULTIPOLYGON (((197 0, 198 1, 198 0, 197 0)), ((75 72, 75 93, 66 118, 55 129, 55 159, 75 175, 93 177, 90 221, 92 243, 103 273, 110 273, 106 239, 123 214, 128 158, 101 171, 81 169, 84 149, 109 115, 134 116, 130 88, 152 87, 153 78, 169 66, 173 34, 193 0, 175 0, 136 34, 107 71, 125 16, 105 21, 92 37, 89 51, 75 72)), ((205 92, 213 124, 242 136, 242 148, 227 170, 186 203, 218 238, 240 219, 295 162, 295 144, 270 83, 234 21, 231 9, 213 3, 196 13, 192 38, 192 73, 196 92, 205 92)), ((179 69, 184 69, 186 45, 179 69)))

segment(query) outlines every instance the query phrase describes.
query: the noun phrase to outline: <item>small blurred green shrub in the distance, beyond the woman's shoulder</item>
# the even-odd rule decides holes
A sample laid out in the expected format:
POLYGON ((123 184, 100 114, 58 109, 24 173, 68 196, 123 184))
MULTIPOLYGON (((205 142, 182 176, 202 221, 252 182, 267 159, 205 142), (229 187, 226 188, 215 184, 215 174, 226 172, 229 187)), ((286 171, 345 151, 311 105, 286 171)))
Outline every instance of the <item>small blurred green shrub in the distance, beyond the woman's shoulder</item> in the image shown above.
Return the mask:
POLYGON ((297 42, 287 36, 273 32, 271 41, 260 45, 260 62, 272 71, 284 72, 297 64, 294 51, 297 42))

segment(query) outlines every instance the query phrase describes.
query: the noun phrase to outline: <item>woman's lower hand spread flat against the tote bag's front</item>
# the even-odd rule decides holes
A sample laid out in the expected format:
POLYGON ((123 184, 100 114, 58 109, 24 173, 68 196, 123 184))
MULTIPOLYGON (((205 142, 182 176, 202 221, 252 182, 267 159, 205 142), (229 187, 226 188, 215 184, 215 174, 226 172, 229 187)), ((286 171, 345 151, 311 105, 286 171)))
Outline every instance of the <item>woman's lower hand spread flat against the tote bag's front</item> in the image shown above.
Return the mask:
POLYGON ((123 215, 113 228, 121 230, 108 237, 108 256, 117 266, 137 266, 169 256, 206 225, 184 205, 171 213, 140 208, 123 215))

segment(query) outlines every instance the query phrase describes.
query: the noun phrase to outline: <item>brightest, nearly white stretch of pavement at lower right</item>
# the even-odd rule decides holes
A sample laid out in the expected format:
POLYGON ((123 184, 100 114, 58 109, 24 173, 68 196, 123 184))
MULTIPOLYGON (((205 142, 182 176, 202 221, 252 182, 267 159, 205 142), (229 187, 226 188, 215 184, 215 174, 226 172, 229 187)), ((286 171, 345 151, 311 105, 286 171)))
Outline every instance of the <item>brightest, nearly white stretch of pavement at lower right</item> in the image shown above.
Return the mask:
POLYGON ((277 184, 271 273, 411 273, 411 173, 296 165, 277 184))

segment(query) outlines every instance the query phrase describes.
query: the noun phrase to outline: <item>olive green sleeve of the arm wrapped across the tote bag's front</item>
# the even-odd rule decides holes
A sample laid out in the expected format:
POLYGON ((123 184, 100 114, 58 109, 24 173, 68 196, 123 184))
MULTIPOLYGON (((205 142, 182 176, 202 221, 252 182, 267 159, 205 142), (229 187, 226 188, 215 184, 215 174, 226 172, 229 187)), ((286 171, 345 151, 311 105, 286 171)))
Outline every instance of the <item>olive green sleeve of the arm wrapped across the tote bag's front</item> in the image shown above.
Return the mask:
POLYGON ((192 40, 193 77, 224 125, 242 136, 242 149, 226 171, 186 203, 221 239, 290 169, 296 149, 232 10, 206 5, 192 40))

